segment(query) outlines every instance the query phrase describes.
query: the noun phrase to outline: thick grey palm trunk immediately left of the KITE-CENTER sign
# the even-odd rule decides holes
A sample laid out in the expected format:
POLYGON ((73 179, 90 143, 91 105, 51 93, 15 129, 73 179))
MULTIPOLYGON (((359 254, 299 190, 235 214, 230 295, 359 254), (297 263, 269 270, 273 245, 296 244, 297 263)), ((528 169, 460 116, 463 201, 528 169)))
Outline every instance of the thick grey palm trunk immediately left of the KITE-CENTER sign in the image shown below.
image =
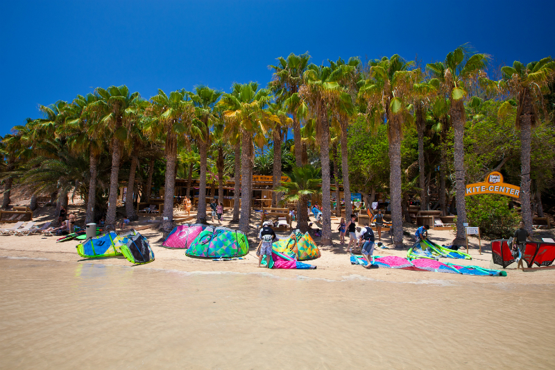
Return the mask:
POLYGON ((456 237, 454 244, 462 244, 465 240, 464 224, 466 223, 465 171, 464 171, 464 105, 463 101, 451 103, 450 116, 454 128, 454 167, 456 196, 456 237))

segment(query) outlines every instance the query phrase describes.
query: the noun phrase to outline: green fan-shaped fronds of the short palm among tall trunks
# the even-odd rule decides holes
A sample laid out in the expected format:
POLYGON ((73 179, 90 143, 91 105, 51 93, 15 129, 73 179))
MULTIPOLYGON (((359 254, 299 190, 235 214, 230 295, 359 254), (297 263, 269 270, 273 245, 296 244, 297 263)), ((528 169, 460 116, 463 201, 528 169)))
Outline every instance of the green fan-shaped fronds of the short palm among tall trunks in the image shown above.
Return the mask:
POLYGON ((320 171, 311 165, 293 167, 289 181, 282 181, 278 192, 283 194, 283 201, 295 203, 307 203, 310 196, 321 194, 320 171), (305 199, 303 202, 302 200, 305 199))

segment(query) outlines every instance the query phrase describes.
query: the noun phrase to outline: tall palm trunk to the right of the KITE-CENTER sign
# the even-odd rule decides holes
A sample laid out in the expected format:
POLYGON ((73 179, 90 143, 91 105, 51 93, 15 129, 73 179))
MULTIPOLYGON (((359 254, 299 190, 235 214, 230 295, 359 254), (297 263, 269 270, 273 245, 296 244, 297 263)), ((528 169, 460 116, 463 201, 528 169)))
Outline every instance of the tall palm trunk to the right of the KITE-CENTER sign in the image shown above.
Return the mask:
POLYGON ((530 94, 524 90, 522 98, 522 113, 520 114, 520 204, 522 205, 522 220, 528 233, 532 232, 532 210, 530 205, 530 151, 533 107, 530 94))

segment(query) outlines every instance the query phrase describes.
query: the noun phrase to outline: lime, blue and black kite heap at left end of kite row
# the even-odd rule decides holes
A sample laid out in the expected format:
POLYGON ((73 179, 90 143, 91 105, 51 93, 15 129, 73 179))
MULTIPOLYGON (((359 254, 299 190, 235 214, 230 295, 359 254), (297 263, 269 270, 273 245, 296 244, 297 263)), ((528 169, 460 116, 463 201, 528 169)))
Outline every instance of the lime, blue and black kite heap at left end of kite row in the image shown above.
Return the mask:
POLYGON ((76 246, 77 253, 83 258, 104 258, 123 255, 133 264, 145 264, 154 260, 154 252, 148 239, 130 230, 129 233, 117 235, 114 231, 92 237, 76 246))

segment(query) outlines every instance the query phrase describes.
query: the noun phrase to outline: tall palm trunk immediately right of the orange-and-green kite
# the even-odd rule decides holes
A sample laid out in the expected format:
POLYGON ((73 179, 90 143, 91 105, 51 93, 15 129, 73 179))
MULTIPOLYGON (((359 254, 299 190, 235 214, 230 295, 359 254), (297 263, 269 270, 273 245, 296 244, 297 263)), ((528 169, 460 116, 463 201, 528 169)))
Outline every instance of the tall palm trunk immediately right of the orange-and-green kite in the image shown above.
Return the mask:
POLYGON ((322 239, 323 246, 332 245, 332 199, 330 196, 330 124, 327 121, 327 108, 321 103, 321 144, 322 162, 322 239))

